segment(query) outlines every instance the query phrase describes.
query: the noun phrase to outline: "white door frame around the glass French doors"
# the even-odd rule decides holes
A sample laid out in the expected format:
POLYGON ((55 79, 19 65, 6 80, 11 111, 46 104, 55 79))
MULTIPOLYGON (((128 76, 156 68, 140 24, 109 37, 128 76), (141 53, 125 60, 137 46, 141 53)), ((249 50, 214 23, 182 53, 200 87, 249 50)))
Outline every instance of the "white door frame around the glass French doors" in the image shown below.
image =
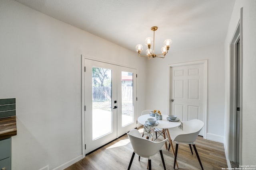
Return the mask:
MULTIPOLYGON (((102 62, 102 63, 107 63, 107 64, 113 64, 113 65, 117 65, 117 66, 123 66, 123 67, 127 67, 127 68, 132 68, 130 66, 124 66, 124 65, 121 65, 121 64, 116 64, 116 63, 110 63, 110 62, 107 62, 107 61, 102 61, 102 60, 99 60, 99 59, 94 59, 94 58, 91 58, 91 57, 86 57, 84 55, 81 55, 81 80, 82 80, 82 86, 81 86, 81 91, 82 91, 82 94, 81 94, 81 118, 82 118, 82 158, 85 157, 86 155, 86 152, 85 152, 85 132, 86 132, 86 126, 85 126, 85 105, 84 105, 84 101, 85 101, 85 97, 84 97, 84 92, 85 92, 85 89, 84 89, 84 76, 85 76, 85 59, 89 59, 89 60, 93 60, 93 61, 98 61, 98 62, 102 62)), ((137 70, 136 68, 132 68, 132 69, 135 69, 137 70)), ((137 73, 136 73, 137 74, 137 73)), ((137 85, 134 86, 134 88, 137 89, 137 85)), ((136 90, 137 92, 137 90, 136 90)), ((135 94, 137 96, 137 93, 135 94)), ((134 100, 135 102, 137 102, 136 100, 134 100)), ((134 117, 138 117, 137 113, 138 113, 138 108, 137 108, 137 104, 134 105, 134 117)))

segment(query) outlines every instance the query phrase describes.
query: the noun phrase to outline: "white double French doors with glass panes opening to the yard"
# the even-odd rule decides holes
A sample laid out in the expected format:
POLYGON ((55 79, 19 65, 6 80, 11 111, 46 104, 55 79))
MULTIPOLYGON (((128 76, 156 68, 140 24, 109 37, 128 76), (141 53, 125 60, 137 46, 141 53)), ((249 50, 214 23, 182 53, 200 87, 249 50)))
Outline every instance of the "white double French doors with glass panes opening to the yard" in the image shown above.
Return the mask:
POLYGON ((136 69, 84 60, 85 153, 120 137, 136 124, 136 69))

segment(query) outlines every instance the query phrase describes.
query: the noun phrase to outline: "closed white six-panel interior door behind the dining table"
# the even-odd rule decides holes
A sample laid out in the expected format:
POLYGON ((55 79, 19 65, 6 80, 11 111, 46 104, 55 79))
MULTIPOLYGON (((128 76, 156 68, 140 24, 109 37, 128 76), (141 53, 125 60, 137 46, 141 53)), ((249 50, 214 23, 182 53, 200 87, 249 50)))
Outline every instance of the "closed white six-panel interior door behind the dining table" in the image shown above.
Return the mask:
MULTIPOLYGON (((170 68, 170 114, 182 121, 200 119, 204 122, 204 64, 170 68)), ((204 135, 204 129, 199 135, 204 135)))

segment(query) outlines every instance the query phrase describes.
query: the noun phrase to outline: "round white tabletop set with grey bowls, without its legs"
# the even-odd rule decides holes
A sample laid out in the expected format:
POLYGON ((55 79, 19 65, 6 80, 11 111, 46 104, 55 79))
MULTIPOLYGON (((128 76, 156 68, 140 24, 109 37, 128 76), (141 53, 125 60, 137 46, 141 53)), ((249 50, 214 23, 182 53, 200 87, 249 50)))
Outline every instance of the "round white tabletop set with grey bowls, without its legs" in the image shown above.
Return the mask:
MULTIPOLYGON (((154 128, 169 129, 169 128, 180 126, 180 122, 168 121, 167 117, 169 117, 169 116, 168 115, 162 115, 162 120, 157 120, 158 125, 154 126, 154 128)), ((152 116, 150 116, 150 114, 141 115, 140 117, 138 117, 138 122, 140 124, 144 125, 145 122, 148 120, 148 118, 152 118, 152 116)))

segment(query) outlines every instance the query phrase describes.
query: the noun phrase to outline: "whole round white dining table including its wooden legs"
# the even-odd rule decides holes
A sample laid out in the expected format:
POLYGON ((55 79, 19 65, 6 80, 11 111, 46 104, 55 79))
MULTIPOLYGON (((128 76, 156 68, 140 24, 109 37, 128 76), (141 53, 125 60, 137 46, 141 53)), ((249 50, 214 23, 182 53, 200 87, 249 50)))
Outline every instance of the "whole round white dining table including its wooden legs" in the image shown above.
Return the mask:
MULTIPOLYGON (((150 116, 149 114, 141 115, 140 117, 138 117, 138 122, 140 124, 144 125, 145 122, 148 120, 148 118, 152 118, 152 117, 153 116, 150 116)), ((169 129, 174 128, 174 127, 178 127, 178 126, 180 126, 181 123, 178 122, 178 121, 176 121, 176 122, 175 121, 168 121, 167 117, 169 117, 169 116, 168 115, 162 115, 162 120, 157 120, 158 125, 154 126, 154 128, 163 129, 164 138, 165 138, 165 133, 167 134, 167 136, 169 138, 169 141, 170 141, 171 148, 172 148, 172 154, 173 154, 173 156, 175 156, 174 148, 173 148, 173 145, 172 145, 172 139, 171 139, 170 133, 169 133, 169 129)), ((166 149, 167 149, 167 144, 166 144, 166 149)), ((179 168, 177 160, 176 160, 176 166, 177 166, 177 168, 179 168)))

